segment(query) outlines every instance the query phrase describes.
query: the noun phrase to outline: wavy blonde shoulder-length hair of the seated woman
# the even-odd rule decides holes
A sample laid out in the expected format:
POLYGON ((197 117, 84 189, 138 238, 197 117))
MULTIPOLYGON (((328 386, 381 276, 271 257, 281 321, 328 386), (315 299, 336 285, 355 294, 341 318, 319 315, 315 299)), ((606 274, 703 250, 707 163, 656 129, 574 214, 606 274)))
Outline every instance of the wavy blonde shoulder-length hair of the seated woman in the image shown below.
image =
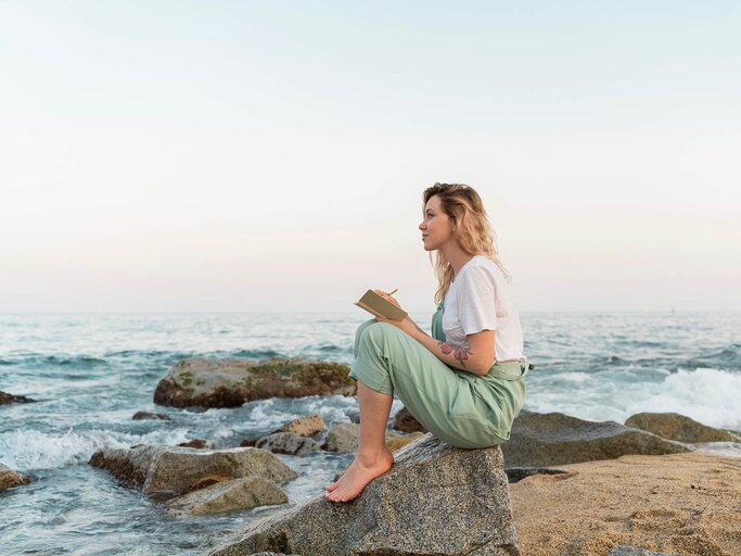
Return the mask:
MULTIPOLYGON (((512 281, 512 276, 499 261, 496 236, 476 190, 464 184, 435 184, 429 187, 422 193, 422 218, 425 217, 427 201, 434 195, 439 198, 440 210, 448 215, 455 226, 453 237, 463 251, 490 260, 499 267, 507 281, 512 281)), ((435 303, 439 303, 448 292, 455 273, 439 250, 436 251, 434 258, 432 252, 430 253, 430 263, 437 276, 435 303)))

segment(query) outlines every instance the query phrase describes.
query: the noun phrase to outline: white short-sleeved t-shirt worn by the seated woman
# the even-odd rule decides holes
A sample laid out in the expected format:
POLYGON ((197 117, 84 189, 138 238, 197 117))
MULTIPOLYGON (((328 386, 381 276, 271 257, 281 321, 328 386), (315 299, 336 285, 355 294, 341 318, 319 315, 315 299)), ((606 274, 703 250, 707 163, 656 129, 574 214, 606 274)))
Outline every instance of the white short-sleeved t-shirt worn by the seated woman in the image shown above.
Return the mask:
POLYGON ((467 334, 495 330, 497 361, 520 359, 524 348, 520 316, 499 267, 483 255, 465 263, 445 295, 446 341, 469 349, 467 334))

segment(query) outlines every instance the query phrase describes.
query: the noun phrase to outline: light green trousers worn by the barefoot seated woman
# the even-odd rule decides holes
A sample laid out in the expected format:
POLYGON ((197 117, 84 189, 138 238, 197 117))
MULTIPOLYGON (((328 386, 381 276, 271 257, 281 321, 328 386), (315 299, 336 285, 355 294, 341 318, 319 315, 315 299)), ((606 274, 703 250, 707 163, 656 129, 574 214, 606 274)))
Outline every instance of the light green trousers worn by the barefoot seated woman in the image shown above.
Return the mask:
MULTIPOLYGON (((432 319, 433 337, 445 341, 443 302, 432 319)), ((463 448, 487 447, 510 438, 525 400, 527 362, 499 365, 478 377, 453 369, 417 340, 375 319, 355 334, 349 376, 376 392, 396 395, 435 437, 463 448)))

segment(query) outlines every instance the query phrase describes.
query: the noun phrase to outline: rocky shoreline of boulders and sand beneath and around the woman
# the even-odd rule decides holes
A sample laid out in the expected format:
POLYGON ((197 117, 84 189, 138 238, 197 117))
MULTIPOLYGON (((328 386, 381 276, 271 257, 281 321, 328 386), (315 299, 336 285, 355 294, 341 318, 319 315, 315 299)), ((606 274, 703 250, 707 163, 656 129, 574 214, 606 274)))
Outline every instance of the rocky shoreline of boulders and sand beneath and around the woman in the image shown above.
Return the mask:
MULTIPOLYGON (((154 401, 207 408, 272 396, 354 395, 347 370, 295 358, 187 359, 159 381, 154 401)), ((2 403, 31 402, 1 394, 2 403)), ((132 418, 169 420, 166 413, 132 418)), ((740 460, 693 445, 739 442, 733 431, 677 414, 639 414, 622 425, 523 410, 507 443, 464 451, 425 434, 403 409, 387 432, 396 456, 389 472, 352 503, 332 504, 318 493, 291 505, 282 489, 297 477, 291 457, 353 453, 358 429, 356 422, 328 428, 312 414, 222 450, 192 439, 178 446, 104 448, 89 464, 184 519, 289 503, 222 541, 214 556, 741 554, 741 535, 733 533, 741 530, 740 460)), ((27 483, 0 466, 0 490, 27 483)))

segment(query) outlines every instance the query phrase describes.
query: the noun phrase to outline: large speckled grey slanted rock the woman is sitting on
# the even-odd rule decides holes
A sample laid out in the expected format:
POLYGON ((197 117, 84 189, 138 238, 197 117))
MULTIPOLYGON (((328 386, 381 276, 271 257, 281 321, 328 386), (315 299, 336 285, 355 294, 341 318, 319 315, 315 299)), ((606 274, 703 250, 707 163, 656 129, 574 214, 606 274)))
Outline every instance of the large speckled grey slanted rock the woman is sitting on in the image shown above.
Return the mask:
POLYGON ((259 552, 303 556, 516 556, 499 447, 459 450, 426 434, 353 502, 323 494, 257 521, 212 556, 259 552))

